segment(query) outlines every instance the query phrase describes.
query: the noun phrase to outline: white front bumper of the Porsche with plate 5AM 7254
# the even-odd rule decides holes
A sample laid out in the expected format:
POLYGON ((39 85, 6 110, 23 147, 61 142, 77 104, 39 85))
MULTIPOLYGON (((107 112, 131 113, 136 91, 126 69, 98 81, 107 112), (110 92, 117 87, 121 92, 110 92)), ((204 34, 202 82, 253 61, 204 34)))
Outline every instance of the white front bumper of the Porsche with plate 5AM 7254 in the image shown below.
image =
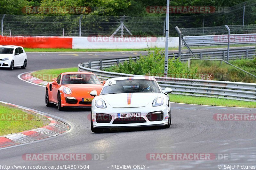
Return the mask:
MULTIPOLYGON (((135 118, 133 120, 136 120, 135 118)), ((94 128, 121 128, 121 127, 143 127, 143 126, 164 126, 168 124, 168 105, 162 106, 146 106, 146 107, 131 107, 131 108, 97 108, 92 107, 92 124, 94 128), (147 114, 150 112, 163 111, 163 120, 161 121, 149 121, 147 114), (118 119, 118 113, 138 113, 140 112, 141 118, 146 122, 141 123, 113 123, 115 119, 118 119), (97 123, 96 113, 108 114, 112 116, 112 120, 109 123, 97 123)))

